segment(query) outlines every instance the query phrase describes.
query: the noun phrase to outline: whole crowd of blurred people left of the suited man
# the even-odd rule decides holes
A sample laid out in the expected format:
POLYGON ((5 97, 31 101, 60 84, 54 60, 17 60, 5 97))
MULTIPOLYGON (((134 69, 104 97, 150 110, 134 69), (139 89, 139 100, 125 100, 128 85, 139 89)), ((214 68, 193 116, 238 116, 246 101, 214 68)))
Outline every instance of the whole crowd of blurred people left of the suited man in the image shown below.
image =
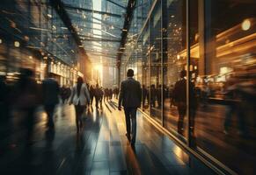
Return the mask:
POLYGON ((86 108, 92 105, 95 98, 95 108, 102 108, 103 101, 111 101, 117 98, 118 88, 102 88, 99 84, 90 85, 84 83, 83 78, 78 77, 74 87, 60 87, 51 73, 48 78, 38 82, 35 80, 33 70, 22 68, 16 82, 7 83, 4 75, 0 76, 0 122, 8 122, 13 111, 24 116, 26 127, 26 141, 33 140, 33 127, 36 120, 36 110, 43 107, 48 120, 48 130, 55 130, 54 116, 58 104, 73 104, 76 110, 77 132, 83 128, 82 117, 86 108), (100 105, 100 106, 99 106, 100 105))

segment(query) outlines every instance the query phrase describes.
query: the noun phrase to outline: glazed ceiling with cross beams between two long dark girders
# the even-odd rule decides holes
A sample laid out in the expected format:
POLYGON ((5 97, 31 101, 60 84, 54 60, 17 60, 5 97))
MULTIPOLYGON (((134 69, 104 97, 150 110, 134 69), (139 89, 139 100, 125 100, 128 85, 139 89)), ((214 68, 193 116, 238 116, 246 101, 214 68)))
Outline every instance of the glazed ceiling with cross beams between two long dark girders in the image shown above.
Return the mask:
POLYGON ((92 63, 115 65, 128 0, 62 0, 92 63))

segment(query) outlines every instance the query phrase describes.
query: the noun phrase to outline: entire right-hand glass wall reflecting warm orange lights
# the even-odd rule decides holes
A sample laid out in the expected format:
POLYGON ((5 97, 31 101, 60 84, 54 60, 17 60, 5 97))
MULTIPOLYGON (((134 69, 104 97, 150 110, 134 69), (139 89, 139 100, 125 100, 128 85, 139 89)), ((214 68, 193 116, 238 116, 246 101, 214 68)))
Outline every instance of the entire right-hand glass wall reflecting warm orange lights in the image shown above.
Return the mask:
POLYGON ((136 3, 121 70, 135 69, 144 113, 223 172, 254 174, 256 2, 136 3))

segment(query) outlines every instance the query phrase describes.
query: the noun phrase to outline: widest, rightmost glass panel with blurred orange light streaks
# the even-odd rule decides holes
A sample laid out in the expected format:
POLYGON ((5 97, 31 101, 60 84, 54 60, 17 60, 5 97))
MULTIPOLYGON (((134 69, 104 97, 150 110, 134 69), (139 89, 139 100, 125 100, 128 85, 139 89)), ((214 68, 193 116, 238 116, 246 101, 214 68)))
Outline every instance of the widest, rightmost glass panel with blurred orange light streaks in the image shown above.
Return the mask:
POLYGON ((256 1, 199 2, 191 3, 191 13, 199 14, 190 29, 198 102, 190 112, 193 143, 238 174, 255 174, 256 1))

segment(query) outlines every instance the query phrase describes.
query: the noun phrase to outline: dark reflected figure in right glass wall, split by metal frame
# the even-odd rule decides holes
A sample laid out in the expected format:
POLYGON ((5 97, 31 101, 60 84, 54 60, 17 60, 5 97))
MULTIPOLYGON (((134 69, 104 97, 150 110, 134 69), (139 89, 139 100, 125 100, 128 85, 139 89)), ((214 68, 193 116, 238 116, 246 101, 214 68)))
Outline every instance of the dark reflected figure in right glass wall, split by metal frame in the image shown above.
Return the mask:
MULTIPOLYGON (((187 75, 186 70, 182 70, 180 72, 180 80, 177 81, 174 85, 172 91, 172 99, 175 105, 178 108, 179 112, 179 120, 178 120, 178 132, 179 134, 183 134, 183 123, 184 117, 186 116, 187 112, 187 79, 185 78, 187 75)), ((194 116, 197 107, 197 100, 194 93, 194 84, 189 82, 189 99, 190 99, 190 108, 189 108, 189 115, 190 115, 190 130, 192 131, 192 135, 194 135, 194 116)))

